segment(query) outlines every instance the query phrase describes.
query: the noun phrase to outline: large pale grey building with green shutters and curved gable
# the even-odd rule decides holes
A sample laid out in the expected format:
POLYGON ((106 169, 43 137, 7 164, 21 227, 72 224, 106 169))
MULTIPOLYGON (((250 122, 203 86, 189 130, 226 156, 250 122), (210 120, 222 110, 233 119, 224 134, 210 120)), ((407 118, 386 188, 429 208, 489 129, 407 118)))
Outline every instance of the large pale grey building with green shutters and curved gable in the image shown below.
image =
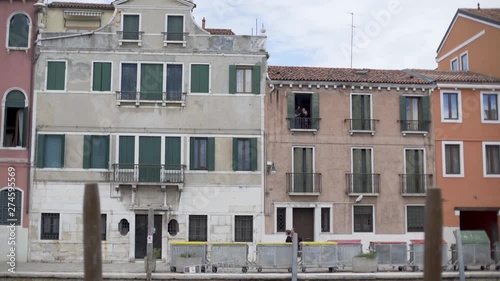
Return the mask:
POLYGON ((145 256, 149 208, 163 259, 171 241, 260 241, 265 35, 203 29, 185 0, 113 5, 94 31, 41 35, 30 260, 82 260, 88 182, 104 261, 145 256))

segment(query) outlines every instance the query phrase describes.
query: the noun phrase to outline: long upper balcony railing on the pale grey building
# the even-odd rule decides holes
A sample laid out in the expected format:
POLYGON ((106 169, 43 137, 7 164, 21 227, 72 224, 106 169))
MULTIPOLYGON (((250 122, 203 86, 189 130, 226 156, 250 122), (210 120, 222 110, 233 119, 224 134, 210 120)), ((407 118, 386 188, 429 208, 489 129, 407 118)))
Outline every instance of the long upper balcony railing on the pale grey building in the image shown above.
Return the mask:
POLYGON ((186 93, 181 92, 134 92, 134 91, 117 91, 116 100, 118 105, 121 103, 161 103, 163 106, 167 104, 185 105, 186 93))

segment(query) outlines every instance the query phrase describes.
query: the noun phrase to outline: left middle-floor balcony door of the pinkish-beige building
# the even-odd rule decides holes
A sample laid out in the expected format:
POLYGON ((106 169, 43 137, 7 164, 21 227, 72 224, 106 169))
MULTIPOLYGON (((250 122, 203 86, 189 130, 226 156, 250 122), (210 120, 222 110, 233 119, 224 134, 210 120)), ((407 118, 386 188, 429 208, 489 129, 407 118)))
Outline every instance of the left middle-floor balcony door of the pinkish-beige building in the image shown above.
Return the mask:
POLYGON ((314 192, 314 157, 312 147, 293 148, 293 192, 314 192))

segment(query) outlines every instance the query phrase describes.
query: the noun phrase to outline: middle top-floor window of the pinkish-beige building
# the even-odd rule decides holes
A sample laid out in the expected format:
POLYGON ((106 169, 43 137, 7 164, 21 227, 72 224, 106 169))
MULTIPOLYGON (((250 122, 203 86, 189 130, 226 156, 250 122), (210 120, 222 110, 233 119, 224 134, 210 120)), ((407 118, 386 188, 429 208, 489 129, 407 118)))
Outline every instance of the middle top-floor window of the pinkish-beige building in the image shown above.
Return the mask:
POLYGON ((371 95, 351 95, 351 130, 373 131, 371 95))

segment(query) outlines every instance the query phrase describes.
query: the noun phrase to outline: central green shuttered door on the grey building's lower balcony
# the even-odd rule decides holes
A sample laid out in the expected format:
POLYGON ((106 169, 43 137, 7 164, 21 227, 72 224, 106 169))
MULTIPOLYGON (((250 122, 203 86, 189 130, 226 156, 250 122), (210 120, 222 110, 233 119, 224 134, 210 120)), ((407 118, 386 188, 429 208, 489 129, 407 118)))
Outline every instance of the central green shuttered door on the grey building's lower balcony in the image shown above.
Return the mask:
POLYGON ((161 137, 139 137, 139 182, 160 182, 161 137))

